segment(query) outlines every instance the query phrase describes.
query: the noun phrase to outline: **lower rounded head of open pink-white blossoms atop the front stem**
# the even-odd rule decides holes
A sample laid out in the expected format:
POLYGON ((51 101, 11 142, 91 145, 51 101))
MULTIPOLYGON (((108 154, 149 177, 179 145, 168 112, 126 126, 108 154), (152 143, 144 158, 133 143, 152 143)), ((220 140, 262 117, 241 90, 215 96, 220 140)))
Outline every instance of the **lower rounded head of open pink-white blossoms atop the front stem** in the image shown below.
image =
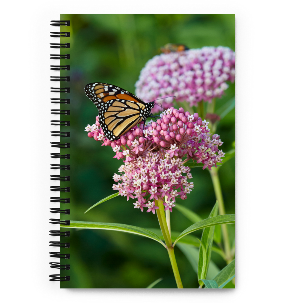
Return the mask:
POLYGON ((127 200, 137 198, 138 201, 133 203, 134 208, 143 211, 144 207, 148 207, 147 212, 152 211, 153 214, 155 209, 159 208, 153 200, 166 196, 167 203, 163 203, 165 210, 172 211, 175 198, 179 196, 186 199, 186 194, 194 187, 193 182, 187 181, 187 178, 192 178, 189 171, 190 168, 183 165, 181 158, 174 158, 167 151, 165 154, 163 151, 149 151, 144 158, 140 156, 121 165, 119 172, 123 174, 114 175, 114 181, 121 183, 113 185, 112 188, 118 190, 120 195, 126 196, 127 200), (186 175, 183 176, 182 173, 186 175), (177 191, 178 188, 180 191, 177 191), (150 197, 145 199, 149 194, 150 197))

